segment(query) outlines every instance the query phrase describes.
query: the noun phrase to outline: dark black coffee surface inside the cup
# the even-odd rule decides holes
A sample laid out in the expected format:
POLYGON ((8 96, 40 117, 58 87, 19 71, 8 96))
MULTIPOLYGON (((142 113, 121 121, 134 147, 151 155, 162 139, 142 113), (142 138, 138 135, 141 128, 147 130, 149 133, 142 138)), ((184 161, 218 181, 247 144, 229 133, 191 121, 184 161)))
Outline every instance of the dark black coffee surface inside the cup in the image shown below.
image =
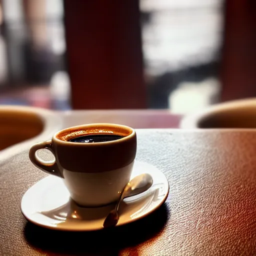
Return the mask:
POLYGON ((95 142, 105 142, 105 141, 116 140, 122 137, 124 136, 120 136, 116 134, 89 134, 89 135, 82 135, 79 137, 71 138, 68 141, 81 142, 81 143, 95 143, 95 142))

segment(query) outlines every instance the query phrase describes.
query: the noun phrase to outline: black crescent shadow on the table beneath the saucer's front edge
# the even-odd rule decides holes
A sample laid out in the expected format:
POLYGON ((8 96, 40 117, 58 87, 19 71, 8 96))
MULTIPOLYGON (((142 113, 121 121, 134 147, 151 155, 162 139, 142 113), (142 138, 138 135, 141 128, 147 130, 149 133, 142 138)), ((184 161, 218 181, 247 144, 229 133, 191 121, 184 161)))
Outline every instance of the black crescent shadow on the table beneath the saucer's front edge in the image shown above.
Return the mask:
POLYGON ((144 218, 114 228, 73 232, 51 230, 27 222, 23 233, 34 249, 45 253, 119 255, 127 247, 158 237, 170 214, 166 204, 167 202, 144 218))

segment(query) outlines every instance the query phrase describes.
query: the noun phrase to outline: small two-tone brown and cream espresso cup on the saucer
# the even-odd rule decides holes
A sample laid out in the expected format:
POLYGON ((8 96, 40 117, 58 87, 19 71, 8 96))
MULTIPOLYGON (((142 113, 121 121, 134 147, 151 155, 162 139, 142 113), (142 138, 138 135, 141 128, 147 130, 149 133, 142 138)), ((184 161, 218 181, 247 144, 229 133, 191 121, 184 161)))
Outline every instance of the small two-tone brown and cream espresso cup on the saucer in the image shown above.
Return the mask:
POLYGON ((60 130, 51 140, 36 143, 29 150, 31 162, 39 169, 63 178, 70 197, 81 206, 101 206, 116 201, 129 182, 135 154, 134 129, 109 123, 60 130), (121 137, 93 143, 70 141, 99 134, 121 137), (36 151, 42 148, 53 153, 53 162, 38 158, 36 151))

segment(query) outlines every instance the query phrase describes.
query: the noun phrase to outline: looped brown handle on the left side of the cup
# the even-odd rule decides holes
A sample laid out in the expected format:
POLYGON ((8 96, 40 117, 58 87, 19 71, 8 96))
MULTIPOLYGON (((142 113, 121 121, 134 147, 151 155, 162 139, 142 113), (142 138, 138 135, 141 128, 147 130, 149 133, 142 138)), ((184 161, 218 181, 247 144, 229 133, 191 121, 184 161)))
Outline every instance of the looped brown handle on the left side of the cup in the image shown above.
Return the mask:
POLYGON ((38 167, 42 171, 49 173, 49 174, 53 174, 58 177, 62 177, 62 175, 59 171, 59 168, 57 166, 57 163, 56 163, 56 156, 54 154, 53 145, 52 145, 51 140, 39 142, 39 143, 32 145, 29 150, 29 159, 36 167, 38 167), (53 162, 44 161, 44 160, 38 158, 38 156, 36 155, 36 151, 38 149, 43 149, 43 148, 50 150, 51 153, 54 155, 55 160, 53 162))

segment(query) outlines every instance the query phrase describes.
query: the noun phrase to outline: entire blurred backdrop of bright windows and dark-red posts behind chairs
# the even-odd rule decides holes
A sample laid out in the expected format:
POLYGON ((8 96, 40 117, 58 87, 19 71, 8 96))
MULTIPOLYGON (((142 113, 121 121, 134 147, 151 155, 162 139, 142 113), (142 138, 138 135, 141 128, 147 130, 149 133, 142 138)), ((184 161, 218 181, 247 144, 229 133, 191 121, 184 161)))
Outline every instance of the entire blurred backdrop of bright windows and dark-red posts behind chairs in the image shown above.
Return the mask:
POLYGON ((255 96, 255 14, 253 0, 0 0, 0 104, 189 113, 255 96))

